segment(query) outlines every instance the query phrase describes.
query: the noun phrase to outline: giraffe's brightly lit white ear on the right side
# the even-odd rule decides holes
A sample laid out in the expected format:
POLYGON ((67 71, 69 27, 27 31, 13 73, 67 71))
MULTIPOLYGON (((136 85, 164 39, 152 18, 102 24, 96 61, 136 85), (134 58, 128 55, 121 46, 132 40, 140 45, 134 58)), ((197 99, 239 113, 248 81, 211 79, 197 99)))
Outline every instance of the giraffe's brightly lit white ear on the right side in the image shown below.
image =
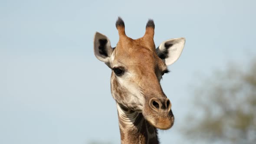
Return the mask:
POLYGON ((158 46, 156 52, 166 65, 171 65, 181 56, 184 45, 185 38, 168 39, 158 46))

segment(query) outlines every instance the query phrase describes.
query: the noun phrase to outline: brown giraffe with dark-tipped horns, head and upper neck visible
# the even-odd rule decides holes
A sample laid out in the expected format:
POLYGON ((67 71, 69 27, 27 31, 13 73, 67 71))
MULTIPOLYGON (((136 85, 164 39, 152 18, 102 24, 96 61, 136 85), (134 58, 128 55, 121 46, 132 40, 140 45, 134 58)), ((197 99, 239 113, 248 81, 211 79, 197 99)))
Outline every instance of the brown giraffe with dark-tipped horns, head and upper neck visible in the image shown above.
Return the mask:
POLYGON ((96 32, 94 54, 112 69, 111 93, 118 111, 121 144, 159 144, 157 130, 174 124, 171 102, 160 80, 169 72, 167 65, 180 57, 185 38, 168 39, 156 49, 153 20, 148 20, 139 39, 126 36, 121 17, 115 25, 119 35, 116 47, 111 47, 107 36, 96 32))

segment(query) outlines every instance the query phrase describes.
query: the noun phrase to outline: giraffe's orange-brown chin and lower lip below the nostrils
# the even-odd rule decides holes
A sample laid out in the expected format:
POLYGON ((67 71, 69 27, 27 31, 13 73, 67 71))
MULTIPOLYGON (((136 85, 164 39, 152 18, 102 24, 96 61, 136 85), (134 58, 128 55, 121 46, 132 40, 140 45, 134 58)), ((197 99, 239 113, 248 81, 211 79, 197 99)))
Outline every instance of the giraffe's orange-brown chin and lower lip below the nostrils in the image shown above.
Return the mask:
MULTIPOLYGON (((142 112, 143 114, 143 112, 142 112)), ((174 115, 172 111, 165 115, 162 113, 151 113, 151 114, 143 114, 144 118, 155 128, 159 128, 161 130, 167 130, 171 128, 174 124, 174 115)))

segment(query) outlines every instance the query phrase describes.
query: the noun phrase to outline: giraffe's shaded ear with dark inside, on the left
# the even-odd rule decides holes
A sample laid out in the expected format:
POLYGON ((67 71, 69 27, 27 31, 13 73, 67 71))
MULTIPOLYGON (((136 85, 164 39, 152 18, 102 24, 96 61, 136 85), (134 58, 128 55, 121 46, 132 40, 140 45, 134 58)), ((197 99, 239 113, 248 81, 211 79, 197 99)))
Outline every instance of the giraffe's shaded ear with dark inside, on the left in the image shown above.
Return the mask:
POLYGON ((94 55, 102 62, 108 63, 113 52, 107 36, 96 32, 94 35, 94 55))

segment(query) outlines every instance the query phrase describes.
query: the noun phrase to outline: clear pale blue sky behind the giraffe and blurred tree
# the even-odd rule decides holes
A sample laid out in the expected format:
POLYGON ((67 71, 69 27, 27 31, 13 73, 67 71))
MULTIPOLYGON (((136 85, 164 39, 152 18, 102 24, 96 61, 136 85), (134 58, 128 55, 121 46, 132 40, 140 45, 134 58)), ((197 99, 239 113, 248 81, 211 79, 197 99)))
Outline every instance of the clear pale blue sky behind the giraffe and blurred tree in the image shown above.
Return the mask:
POLYGON ((191 87, 228 62, 241 69, 256 56, 253 0, 1 0, 0 143, 120 143, 111 70, 93 54, 96 31, 118 41, 115 21, 126 34, 144 35, 155 22, 158 46, 185 37, 184 51, 164 75, 175 124, 159 131, 163 144, 189 143, 180 134, 191 87))

